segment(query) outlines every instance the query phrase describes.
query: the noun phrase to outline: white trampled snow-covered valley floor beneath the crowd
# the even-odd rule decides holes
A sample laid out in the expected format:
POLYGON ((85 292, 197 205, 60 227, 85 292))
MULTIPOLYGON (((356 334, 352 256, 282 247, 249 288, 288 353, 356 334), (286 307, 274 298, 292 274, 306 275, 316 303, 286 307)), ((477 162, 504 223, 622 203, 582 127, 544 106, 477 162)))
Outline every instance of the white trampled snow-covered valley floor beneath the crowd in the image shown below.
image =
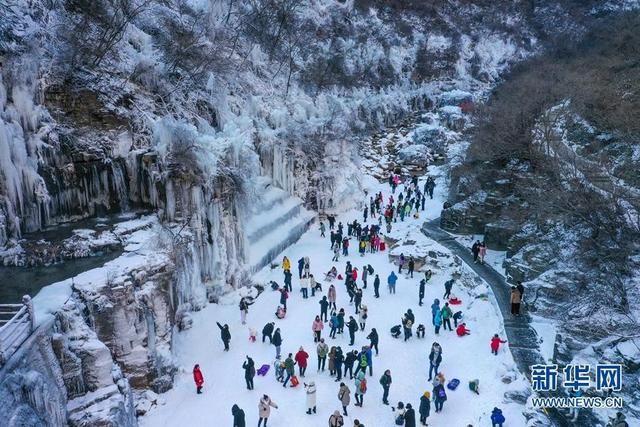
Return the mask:
MULTIPOLYGON (((431 171, 431 170, 430 170, 431 171)), ((435 172, 435 171, 434 171, 435 172)), ((381 190, 387 200, 389 188, 386 185, 373 181, 366 182, 369 190, 381 190)), ((442 184, 442 181, 439 182, 442 184)), ((436 188, 436 195, 444 194, 444 185, 436 188)), ((397 193, 397 192, 396 192, 397 193)), ((396 194, 397 195, 397 194, 396 194)), ((446 252, 446 249, 429 242, 419 232, 423 219, 438 216, 442 206, 442 199, 436 197, 428 200, 425 215, 420 219, 409 219, 405 222, 394 224, 391 237, 403 237, 404 240, 415 240, 415 246, 433 245, 437 251, 446 252), (417 240, 418 236, 422 236, 417 240)), ((362 220, 362 213, 351 211, 340 215, 338 220, 345 224, 353 219, 362 220)), ((327 232, 328 236, 328 232, 327 232)), ((401 245, 403 242, 400 241, 401 245)), ((390 392, 390 402, 410 402, 416 409, 419 406, 419 398, 425 391, 431 391, 432 385, 427 381, 429 368, 428 354, 431 344, 439 342, 443 347, 443 361, 440 370, 444 373, 447 382, 452 378, 460 379, 460 387, 455 391, 448 391, 448 401, 443 412, 436 414, 431 407, 429 425, 437 426, 466 426, 472 424, 490 425, 489 417, 494 406, 503 409, 508 420, 508 425, 525 425, 526 420, 522 415, 525 409, 522 405, 509 402, 505 403, 504 394, 507 391, 522 391, 528 388, 528 383, 517 373, 517 368, 508 350, 508 344, 500 349, 500 354, 494 356, 489 349, 489 341, 494 333, 500 333, 504 337, 502 318, 495 306, 494 299, 487 294, 488 287, 482 282, 473 280, 459 281, 472 283, 468 288, 456 285, 453 293, 463 301, 461 309, 464 319, 471 329, 471 335, 464 338, 456 336, 455 332, 441 331, 435 336, 431 325, 430 305, 435 298, 441 298, 444 290, 443 284, 451 277, 451 273, 457 271, 452 258, 443 257, 439 260, 438 269, 434 269, 434 277, 426 288, 424 305, 418 306, 418 282, 422 275, 417 273, 413 279, 402 275, 398 281, 397 294, 389 295, 386 279, 392 269, 397 269, 389 262, 389 250, 376 254, 367 254, 360 257, 357 254, 355 244, 350 248, 350 256, 340 258, 338 263, 332 263, 332 253, 329 250, 329 239, 321 238, 320 232, 314 226, 305 233, 293 246, 285 250, 274 261, 280 262, 283 255, 292 261, 294 273, 294 292, 291 294, 287 305, 287 317, 277 320, 274 312, 279 303, 279 293, 269 287, 260 295, 255 304, 250 307, 246 325, 240 322, 238 301, 240 292, 225 296, 219 304, 210 304, 200 312, 193 313, 193 328, 177 335, 175 348, 177 349, 178 364, 181 368, 177 376, 175 386, 160 399, 163 404, 153 408, 140 419, 142 426, 209 426, 227 425, 231 423, 231 407, 238 404, 246 413, 247 425, 255 425, 258 419, 258 400, 263 394, 268 394, 278 404, 278 409, 272 410, 269 425, 277 426, 324 426, 334 410, 340 408, 337 398, 338 383, 330 377, 328 372, 316 372, 316 345, 313 343, 311 323, 315 315, 320 313, 318 304, 321 295, 326 295, 329 284, 322 282, 321 295, 307 300, 302 299, 299 292, 299 283, 296 280, 296 262, 303 256, 309 256, 311 271, 314 277, 321 279, 332 265, 340 272, 344 272, 346 260, 350 260, 359 270, 366 264, 371 264, 375 273, 381 279, 381 298, 373 297, 372 282, 369 278, 369 286, 364 290, 363 304, 369 309, 369 318, 364 332, 356 333, 356 341, 350 347, 346 328, 344 336, 337 339, 329 338, 329 327, 325 324, 322 336, 328 345, 341 346, 345 353, 351 349, 360 350, 368 344, 366 335, 375 327, 380 335, 380 355, 373 360, 373 377, 369 378, 369 389, 364 397, 363 408, 354 407, 353 393, 354 382, 348 378, 343 381, 352 391, 352 404, 349 407, 349 417, 345 419, 345 425, 351 426, 355 418, 364 425, 383 426, 393 425, 393 413, 390 407, 381 403, 382 387, 379 378, 385 369, 391 370, 393 384, 390 392), (474 283, 475 282, 475 283, 474 283), (476 297, 477 296, 477 297, 476 297), (401 317, 411 308, 416 316, 416 324, 424 324, 427 328, 425 339, 411 338, 408 342, 402 339, 394 339, 389 329, 400 324, 401 317), (230 326, 232 340, 231 350, 223 351, 220 340, 220 331, 216 327, 216 321, 227 323, 230 326), (286 358, 288 353, 295 353, 302 346, 309 353, 309 368, 305 378, 301 382, 315 381, 317 386, 317 415, 305 414, 305 392, 302 384, 296 388, 283 388, 275 379, 273 367, 266 377, 256 376, 255 390, 249 391, 245 387, 244 371, 242 363, 246 356, 254 359, 256 367, 262 364, 273 365, 275 360, 275 348, 260 340, 260 331, 267 323, 274 321, 280 328, 283 337, 282 354, 286 358), (258 331, 258 341, 249 341, 249 328, 258 331), (191 370, 198 363, 205 377, 204 394, 197 395, 193 383, 191 370), (475 395, 468 389, 468 382, 473 379, 480 381, 480 394, 475 395)), ((402 249, 391 249, 396 253, 402 249)), ((405 253, 414 250, 413 246, 407 246, 405 253)), ((282 269, 265 269, 259 271, 255 277, 258 283, 268 283, 270 280, 282 284, 282 269)), ((343 307, 348 316, 354 314, 354 307, 349 305, 346 289, 342 281, 334 281, 338 295, 338 308, 343 307)), ((362 285, 360 278, 358 284, 362 285)), ((244 290, 246 292, 246 289, 244 290)), ((297 373, 297 369, 296 369, 297 373)))

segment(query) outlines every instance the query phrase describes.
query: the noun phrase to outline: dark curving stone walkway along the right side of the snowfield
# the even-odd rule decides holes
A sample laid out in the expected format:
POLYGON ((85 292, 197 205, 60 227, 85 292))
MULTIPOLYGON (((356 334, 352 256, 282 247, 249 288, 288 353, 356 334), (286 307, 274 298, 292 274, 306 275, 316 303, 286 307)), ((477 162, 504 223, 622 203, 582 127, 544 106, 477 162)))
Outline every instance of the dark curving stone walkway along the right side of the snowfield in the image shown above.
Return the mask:
MULTIPOLYGON (((500 307, 507 340, 509 341, 509 349, 520 371, 527 378, 530 378, 531 365, 544 364, 545 360, 540 353, 538 334, 531 327, 529 316, 527 314, 520 317, 511 315, 511 286, 506 283, 500 273, 489 265, 475 264, 473 262, 473 254, 469 248, 460 244, 453 236, 440 228, 440 218, 425 222, 422 226, 422 232, 457 255, 489 284, 500 307)), ((552 393, 552 395, 562 396, 560 393, 552 393)), ((545 396, 547 395, 545 394, 545 396)), ((600 425, 591 411, 582 410, 580 417, 575 422, 571 422, 563 413, 554 408, 547 408, 544 412, 552 425, 558 427, 600 425)))

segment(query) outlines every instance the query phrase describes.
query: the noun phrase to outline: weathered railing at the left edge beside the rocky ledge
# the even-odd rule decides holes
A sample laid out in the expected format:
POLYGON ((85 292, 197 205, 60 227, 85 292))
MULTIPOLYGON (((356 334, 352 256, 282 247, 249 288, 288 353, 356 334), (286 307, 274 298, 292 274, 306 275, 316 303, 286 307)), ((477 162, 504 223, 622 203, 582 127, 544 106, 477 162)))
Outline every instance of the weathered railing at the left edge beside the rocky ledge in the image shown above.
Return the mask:
POLYGON ((22 304, 0 304, 0 366, 9 360, 34 329, 31 297, 22 297, 22 304))

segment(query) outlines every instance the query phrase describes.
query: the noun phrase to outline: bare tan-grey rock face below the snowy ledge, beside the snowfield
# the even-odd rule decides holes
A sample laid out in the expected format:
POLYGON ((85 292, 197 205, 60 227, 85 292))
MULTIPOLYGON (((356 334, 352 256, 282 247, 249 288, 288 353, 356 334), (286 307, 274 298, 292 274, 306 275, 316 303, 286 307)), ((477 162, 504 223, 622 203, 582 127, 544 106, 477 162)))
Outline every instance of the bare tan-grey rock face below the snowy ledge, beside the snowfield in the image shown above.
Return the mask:
POLYGON ((172 282, 173 270, 160 264, 101 287, 76 286, 89 324, 133 388, 162 392, 171 387, 172 282))

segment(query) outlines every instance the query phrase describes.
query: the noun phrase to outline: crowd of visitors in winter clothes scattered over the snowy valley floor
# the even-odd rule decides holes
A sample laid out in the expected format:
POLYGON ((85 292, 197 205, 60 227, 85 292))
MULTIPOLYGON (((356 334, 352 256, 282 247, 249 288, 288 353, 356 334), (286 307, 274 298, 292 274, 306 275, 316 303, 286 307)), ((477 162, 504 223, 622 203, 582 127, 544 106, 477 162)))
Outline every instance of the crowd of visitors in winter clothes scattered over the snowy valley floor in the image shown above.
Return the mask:
MULTIPOLYGON (((398 175, 392 175, 389 178, 391 194, 386 198, 386 203, 382 192, 369 197, 369 200, 364 204, 362 224, 358 222, 358 220, 347 222, 345 230, 343 223, 337 221, 335 216, 330 215, 327 217, 333 262, 338 263, 340 256, 349 256, 350 242, 352 239, 357 242, 358 254, 362 257, 366 256, 367 253, 384 251, 386 249, 385 242, 381 234, 383 221, 388 233, 398 220, 402 222, 412 216, 415 218, 419 217, 419 212, 425 209, 425 199, 427 197, 433 198, 435 188, 434 179, 428 177, 424 186, 420 188, 418 185, 418 177, 412 177, 405 183, 403 191, 400 191, 397 199, 395 199, 396 190, 401 183, 402 180, 398 175)), ((320 223, 319 228, 320 236, 325 237, 327 226, 325 226, 324 222, 320 223)), ((477 242, 477 245, 474 244, 472 251, 474 260, 478 260, 481 263, 484 262, 484 254, 486 253, 484 244, 477 242), (484 248, 484 252, 482 248, 484 248)), ((333 265, 321 280, 316 280, 312 274, 312 264, 309 256, 301 257, 297 260, 296 264, 302 300, 314 298, 316 294, 321 295, 318 299, 318 306, 313 306, 314 314, 310 318, 310 329, 313 335, 313 344, 315 346, 314 350, 317 360, 317 374, 328 375, 337 383, 336 405, 338 405, 340 409, 336 409, 330 414, 328 424, 330 427, 344 426, 344 417, 349 416, 348 411, 352 397, 353 400, 355 400, 354 406, 364 407, 365 396, 371 393, 370 389, 373 386, 373 384, 369 384, 367 373, 369 378, 372 378, 374 375, 374 357, 379 354, 380 341, 376 327, 368 328, 367 324, 370 312, 369 307, 365 304, 365 295, 371 294, 363 291, 368 289, 369 284, 371 284, 373 287, 371 296, 373 298, 381 298, 381 280, 379 273, 376 273, 374 266, 369 263, 363 263, 362 268, 359 269, 357 266, 352 265, 350 260, 347 260, 344 268, 338 268, 336 265, 333 265), (322 282, 328 285, 326 293, 323 290, 322 282), (349 310, 346 310, 338 304, 339 300, 337 295, 342 292, 339 292, 339 289, 343 289, 348 298, 348 301, 346 298, 341 299, 340 303, 345 306, 348 304, 349 310), (368 344, 354 348, 357 334, 363 334, 363 336, 366 334, 368 344), (339 338, 341 336, 346 337, 347 335, 348 344, 341 345, 341 343, 345 343, 345 341, 339 338)), ((392 270, 386 277, 388 286, 387 297, 393 297, 395 294, 396 285, 402 277, 404 270, 405 277, 407 278, 413 278, 414 274, 420 275, 417 298, 418 305, 422 306, 425 297, 425 287, 428 286, 432 280, 433 272, 430 269, 416 272, 416 259, 414 259, 413 256, 405 257, 403 253, 397 257, 396 264, 398 266, 397 273, 392 270)), ((295 354, 287 353, 286 357, 282 357, 283 337, 280 328, 277 327, 277 322, 286 317, 288 300, 293 294, 293 264, 291 260, 285 256, 279 264, 279 267, 282 268, 283 285, 280 286, 275 281, 270 283, 271 289, 279 293, 279 305, 275 312, 276 319, 265 324, 261 331, 262 343, 267 344, 268 339, 268 344, 274 347, 275 361, 271 365, 263 365, 257 369, 254 360, 249 356, 246 357, 242 368, 244 369, 248 390, 254 389, 254 377, 256 375, 266 374, 270 368, 273 368, 275 380, 282 384, 283 388, 300 386, 300 381, 303 381, 305 378, 309 366, 309 358, 312 357, 304 346, 299 346, 295 354), (298 368, 297 375, 296 366, 298 368)), ((462 310, 458 309, 462 301, 454 294, 455 284, 455 278, 452 277, 447 280, 444 284, 442 302, 440 299, 435 299, 431 304, 430 314, 434 338, 440 335, 441 329, 451 333, 455 332, 459 337, 470 334, 470 330, 463 321, 464 314, 462 310), (451 324, 452 320, 453 327, 451 324)), ((516 292, 520 292, 521 298, 523 290, 518 291, 516 287, 514 287, 514 289, 516 292)), ((239 308, 242 324, 246 323, 249 306, 252 303, 253 300, 250 298, 242 298, 240 301, 239 308)), ((513 296, 512 304, 515 304, 513 296)), ((514 308, 512 305, 512 313, 518 310, 518 308, 514 308)), ((220 329, 220 337, 224 345, 224 351, 229 351, 231 342, 229 326, 220 323, 217 325, 220 329)), ((425 339, 427 333, 425 324, 421 323, 416 326, 416 316, 412 309, 409 308, 404 315, 401 316, 400 324, 391 327, 391 336, 400 339, 402 335, 404 341, 411 340, 414 337, 414 327, 416 329, 416 339, 425 339)), ((253 332, 253 335, 253 339, 255 340, 255 332, 253 332)), ((494 335, 488 341, 493 354, 498 354, 500 344, 506 342, 502 340, 498 334, 494 335)), ((416 402, 418 402, 416 405, 417 414, 412 404, 406 402, 406 400, 404 402, 397 402, 395 405, 390 404, 389 394, 393 384, 392 372, 391 369, 385 369, 383 371, 377 381, 380 387, 380 400, 382 404, 389 405, 391 408, 393 420, 396 425, 415 427, 418 420, 420 425, 426 426, 431 413, 432 403, 435 413, 444 410, 444 404, 447 401, 447 390, 455 390, 460 381, 455 378, 449 382, 445 380, 445 375, 440 370, 443 357, 442 346, 437 341, 432 342, 428 354, 428 381, 431 381, 431 389, 424 391, 424 393, 419 396, 415 396, 416 402)), ((199 365, 195 365, 193 377, 196 383, 197 393, 202 393, 204 376, 199 365)), ((303 381, 302 387, 306 394, 306 414, 314 415, 317 413, 317 385, 314 381, 303 381)), ((471 379, 469 381, 469 390, 475 394, 479 394, 479 381, 477 379, 471 379)), ((369 399, 367 398, 367 400, 369 399)), ((265 427, 267 426, 272 409, 278 409, 278 405, 267 394, 263 394, 262 397, 258 399, 258 427, 262 424, 264 424, 265 427)), ((494 408, 492 421, 494 420, 493 414, 497 414, 498 412, 500 417, 502 417, 502 422, 504 422, 504 416, 498 408, 494 408)), ((245 426, 245 414, 238 405, 233 405, 232 415, 234 427, 245 426)), ((496 416, 496 418, 499 417, 496 416)), ((354 427, 364 427, 364 424, 357 419, 353 420, 353 425, 354 427)))

